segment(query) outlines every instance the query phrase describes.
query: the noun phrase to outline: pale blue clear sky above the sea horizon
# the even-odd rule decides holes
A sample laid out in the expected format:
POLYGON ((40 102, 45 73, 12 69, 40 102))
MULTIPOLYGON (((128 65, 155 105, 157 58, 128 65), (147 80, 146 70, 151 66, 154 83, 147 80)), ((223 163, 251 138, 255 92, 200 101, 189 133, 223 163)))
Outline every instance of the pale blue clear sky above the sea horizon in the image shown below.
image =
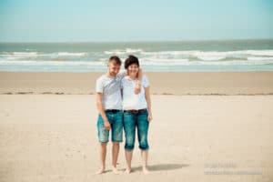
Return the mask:
POLYGON ((0 0, 0 42, 273 38, 273 0, 0 0))

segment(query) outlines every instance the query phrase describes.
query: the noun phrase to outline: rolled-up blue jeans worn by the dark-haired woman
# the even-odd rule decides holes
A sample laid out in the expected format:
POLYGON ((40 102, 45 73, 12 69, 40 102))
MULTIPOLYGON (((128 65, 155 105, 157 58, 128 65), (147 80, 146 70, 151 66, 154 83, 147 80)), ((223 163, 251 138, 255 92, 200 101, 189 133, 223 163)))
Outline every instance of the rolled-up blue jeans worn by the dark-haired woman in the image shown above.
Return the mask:
POLYGON ((147 110, 139 111, 137 114, 124 111, 124 130, 126 136, 126 150, 133 150, 135 147, 136 129, 139 148, 147 150, 147 134, 149 122, 147 120, 147 110))

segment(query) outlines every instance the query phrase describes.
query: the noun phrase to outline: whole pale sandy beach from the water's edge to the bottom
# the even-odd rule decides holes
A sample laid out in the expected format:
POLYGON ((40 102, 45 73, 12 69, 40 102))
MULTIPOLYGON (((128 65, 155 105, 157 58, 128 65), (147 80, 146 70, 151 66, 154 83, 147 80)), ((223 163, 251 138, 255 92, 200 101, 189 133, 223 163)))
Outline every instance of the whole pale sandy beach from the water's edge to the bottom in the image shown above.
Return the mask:
POLYGON ((107 172, 95 175, 100 74, 0 73, 1 182, 273 180, 273 72, 147 73, 147 176, 137 145, 133 173, 109 172, 108 145, 107 172))

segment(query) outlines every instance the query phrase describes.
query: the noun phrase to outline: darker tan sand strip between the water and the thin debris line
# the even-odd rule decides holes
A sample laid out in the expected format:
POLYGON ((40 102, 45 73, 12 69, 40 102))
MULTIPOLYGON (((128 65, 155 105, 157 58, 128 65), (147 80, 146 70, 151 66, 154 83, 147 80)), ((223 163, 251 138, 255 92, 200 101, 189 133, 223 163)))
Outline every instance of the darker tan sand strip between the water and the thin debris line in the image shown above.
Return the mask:
MULTIPOLYGON (((0 72, 0 95, 94 95, 104 74, 69 72, 0 72)), ((273 95, 273 71, 145 72, 152 95, 273 95)))

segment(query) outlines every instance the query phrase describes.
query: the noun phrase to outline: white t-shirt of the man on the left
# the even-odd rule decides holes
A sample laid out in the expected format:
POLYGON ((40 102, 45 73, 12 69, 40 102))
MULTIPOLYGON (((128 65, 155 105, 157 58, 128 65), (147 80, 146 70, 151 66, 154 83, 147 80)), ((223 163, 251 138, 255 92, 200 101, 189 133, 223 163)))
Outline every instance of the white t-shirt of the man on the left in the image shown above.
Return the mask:
POLYGON ((121 79, 125 73, 117 74, 115 77, 106 75, 100 76, 96 80, 96 93, 102 93, 102 104, 105 109, 122 109, 121 79))

